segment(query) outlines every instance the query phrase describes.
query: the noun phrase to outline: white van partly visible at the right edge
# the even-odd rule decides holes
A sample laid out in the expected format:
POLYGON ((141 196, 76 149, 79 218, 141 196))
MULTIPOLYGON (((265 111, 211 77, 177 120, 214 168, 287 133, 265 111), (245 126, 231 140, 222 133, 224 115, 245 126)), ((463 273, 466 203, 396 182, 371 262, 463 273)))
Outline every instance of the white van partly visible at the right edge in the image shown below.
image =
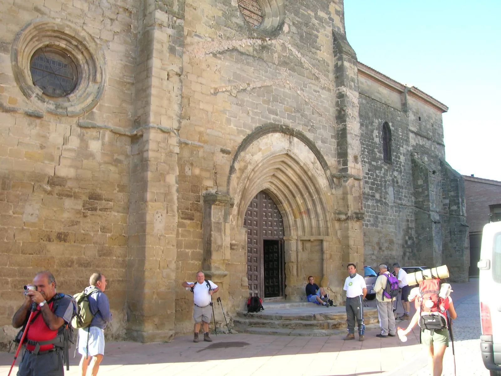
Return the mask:
POLYGON ((483 227, 478 261, 480 351, 491 376, 501 376, 501 222, 483 227))

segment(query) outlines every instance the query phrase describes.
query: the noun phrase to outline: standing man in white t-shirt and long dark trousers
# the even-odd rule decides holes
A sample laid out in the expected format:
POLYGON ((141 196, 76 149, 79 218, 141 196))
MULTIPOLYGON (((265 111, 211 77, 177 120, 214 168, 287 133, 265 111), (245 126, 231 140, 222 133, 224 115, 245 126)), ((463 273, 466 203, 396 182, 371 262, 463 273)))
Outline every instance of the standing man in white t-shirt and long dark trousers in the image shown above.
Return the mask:
POLYGON ((346 323, 348 326, 347 339, 355 339, 355 319, 358 323, 358 340, 364 340, 364 306, 362 301, 367 295, 367 285, 364 277, 357 274, 355 264, 348 264, 348 273, 350 274, 345 281, 344 290, 346 291, 346 323))

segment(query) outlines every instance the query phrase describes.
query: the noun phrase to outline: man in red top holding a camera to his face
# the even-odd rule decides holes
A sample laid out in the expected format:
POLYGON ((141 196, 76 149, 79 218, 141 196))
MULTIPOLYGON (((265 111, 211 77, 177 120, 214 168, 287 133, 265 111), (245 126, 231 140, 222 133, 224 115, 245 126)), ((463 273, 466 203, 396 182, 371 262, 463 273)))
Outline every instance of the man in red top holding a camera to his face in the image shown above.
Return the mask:
POLYGON ((64 375, 63 349, 55 344, 60 342, 58 331, 71 321, 74 309, 71 297, 56 293, 56 279, 49 271, 37 273, 33 285, 25 286, 25 301, 14 314, 12 325, 23 326, 24 330, 30 311, 35 313, 28 326, 18 376, 64 375), (53 343, 47 343, 51 340, 53 343))

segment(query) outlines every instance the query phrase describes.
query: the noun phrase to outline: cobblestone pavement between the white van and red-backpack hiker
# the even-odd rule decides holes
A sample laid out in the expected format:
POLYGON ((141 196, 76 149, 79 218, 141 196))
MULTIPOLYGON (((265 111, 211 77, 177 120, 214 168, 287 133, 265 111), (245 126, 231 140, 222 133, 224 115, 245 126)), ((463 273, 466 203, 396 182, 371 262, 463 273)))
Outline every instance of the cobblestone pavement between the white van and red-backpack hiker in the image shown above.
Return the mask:
MULTIPOLYGON (((453 295, 452 295, 453 296, 453 295)), ((454 301, 457 318, 453 321, 454 352, 457 376, 489 376, 480 355, 480 312, 478 292, 454 301)), ((424 352, 423 352, 423 356, 424 352)), ((412 369, 413 364, 409 366, 412 369)), ((417 367, 416 367, 417 368, 417 367)), ((414 368, 414 369, 416 369, 414 368)), ((412 376, 428 376, 426 365, 412 376)), ((454 375, 454 357, 449 345, 443 358, 443 376, 454 375)))

